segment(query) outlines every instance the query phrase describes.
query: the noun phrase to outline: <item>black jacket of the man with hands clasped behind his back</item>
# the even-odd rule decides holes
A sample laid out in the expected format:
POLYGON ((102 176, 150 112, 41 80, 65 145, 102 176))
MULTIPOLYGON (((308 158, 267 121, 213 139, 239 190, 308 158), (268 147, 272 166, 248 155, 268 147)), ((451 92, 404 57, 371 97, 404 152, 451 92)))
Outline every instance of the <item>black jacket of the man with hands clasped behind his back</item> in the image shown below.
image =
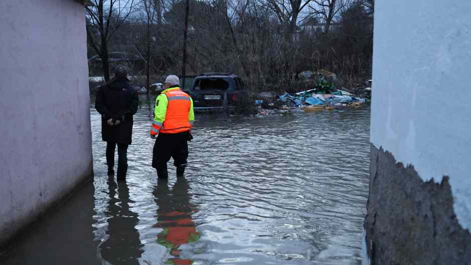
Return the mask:
POLYGON ((139 97, 127 80, 112 80, 97 93, 95 108, 101 114, 101 136, 105 142, 131 144, 132 116, 139 107, 139 97), (121 121, 109 126, 108 120, 121 121))

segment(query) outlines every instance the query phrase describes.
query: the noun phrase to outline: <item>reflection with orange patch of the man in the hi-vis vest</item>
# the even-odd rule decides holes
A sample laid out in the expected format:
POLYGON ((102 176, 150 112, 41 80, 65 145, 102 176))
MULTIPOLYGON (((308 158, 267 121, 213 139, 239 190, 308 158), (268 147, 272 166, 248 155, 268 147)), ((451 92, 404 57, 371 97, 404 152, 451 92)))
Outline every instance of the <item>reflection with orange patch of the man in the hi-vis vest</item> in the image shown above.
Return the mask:
POLYGON ((157 242, 170 249, 170 254, 175 256, 165 264, 189 265, 193 263, 191 259, 180 258, 181 250, 178 249, 182 244, 197 241, 200 235, 192 219, 193 210, 188 188, 186 179, 179 177, 172 191, 168 189, 165 179, 159 179, 157 188, 154 190, 155 202, 159 206, 158 222, 154 224, 154 227, 163 229, 157 235, 157 242))

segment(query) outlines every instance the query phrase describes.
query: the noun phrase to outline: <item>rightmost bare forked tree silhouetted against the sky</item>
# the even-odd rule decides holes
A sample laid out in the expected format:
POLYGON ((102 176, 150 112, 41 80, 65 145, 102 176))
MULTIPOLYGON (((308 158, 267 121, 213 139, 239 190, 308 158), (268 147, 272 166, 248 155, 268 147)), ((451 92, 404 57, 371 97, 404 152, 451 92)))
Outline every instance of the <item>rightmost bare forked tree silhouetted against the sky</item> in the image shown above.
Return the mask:
POLYGON ((319 16, 324 22, 324 33, 327 35, 335 16, 348 5, 348 0, 313 0, 309 6, 311 16, 319 16))

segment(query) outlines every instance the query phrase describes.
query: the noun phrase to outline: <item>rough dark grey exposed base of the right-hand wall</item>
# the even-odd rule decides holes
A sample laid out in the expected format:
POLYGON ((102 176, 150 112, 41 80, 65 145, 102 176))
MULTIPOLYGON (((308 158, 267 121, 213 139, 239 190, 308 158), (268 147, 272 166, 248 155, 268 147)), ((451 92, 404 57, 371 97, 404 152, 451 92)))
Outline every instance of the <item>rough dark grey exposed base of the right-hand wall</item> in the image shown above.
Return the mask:
POLYGON ((371 147, 366 247, 372 264, 471 264, 448 177, 423 181, 412 166, 371 147))

